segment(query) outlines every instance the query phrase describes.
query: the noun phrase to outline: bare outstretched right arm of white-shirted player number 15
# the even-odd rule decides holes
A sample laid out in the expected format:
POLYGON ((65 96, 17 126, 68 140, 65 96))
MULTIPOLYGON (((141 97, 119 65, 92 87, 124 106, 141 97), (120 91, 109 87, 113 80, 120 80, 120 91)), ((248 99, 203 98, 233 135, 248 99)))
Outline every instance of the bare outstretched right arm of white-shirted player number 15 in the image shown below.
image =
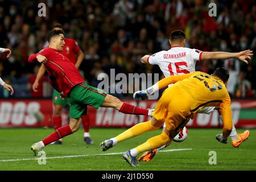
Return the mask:
POLYGON ((248 61, 246 59, 251 59, 253 56, 253 51, 246 50, 241 52, 203 52, 201 55, 202 60, 208 60, 208 59, 229 59, 229 58, 237 58, 241 61, 248 64, 248 61))

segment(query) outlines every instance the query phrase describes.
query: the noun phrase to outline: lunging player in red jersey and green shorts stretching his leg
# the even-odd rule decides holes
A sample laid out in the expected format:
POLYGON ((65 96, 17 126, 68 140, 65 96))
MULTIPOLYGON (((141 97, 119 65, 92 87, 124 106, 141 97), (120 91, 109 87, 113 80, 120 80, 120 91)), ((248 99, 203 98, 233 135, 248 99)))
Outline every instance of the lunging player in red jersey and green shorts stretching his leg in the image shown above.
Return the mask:
POLYGON ((86 84, 75 65, 60 53, 65 45, 62 31, 52 30, 49 32, 47 39, 49 47, 31 55, 28 62, 32 63, 38 60, 39 63, 44 64, 49 73, 50 84, 60 93, 61 97, 66 97, 69 100, 71 105, 69 110, 70 120, 69 125, 60 127, 47 138, 34 143, 31 150, 34 151, 35 155, 38 155, 38 152, 49 143, 79 130, 81 116, 86 112, 87 105, 96 109, 112 107, 125 114, 142 114, 152 117, 152 110, 127 104, 103 90, 86 84))

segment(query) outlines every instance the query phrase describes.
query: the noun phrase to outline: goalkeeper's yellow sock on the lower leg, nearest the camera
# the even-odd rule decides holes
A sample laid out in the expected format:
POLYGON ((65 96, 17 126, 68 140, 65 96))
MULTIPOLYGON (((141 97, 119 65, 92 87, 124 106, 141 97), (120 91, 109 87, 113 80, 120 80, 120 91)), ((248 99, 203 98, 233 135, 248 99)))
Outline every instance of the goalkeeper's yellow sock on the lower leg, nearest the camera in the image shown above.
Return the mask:
POLYGON ((152 150, 158 147, 163 146, 164 144, 171 142, 171 139, 168 137, 166 133, 162 133, 155 137, 152 137, 147 140, 147 142, 141 144, 140 146, 136 147, 135 149, 138 151, 138 154, 144 151, 152 150))

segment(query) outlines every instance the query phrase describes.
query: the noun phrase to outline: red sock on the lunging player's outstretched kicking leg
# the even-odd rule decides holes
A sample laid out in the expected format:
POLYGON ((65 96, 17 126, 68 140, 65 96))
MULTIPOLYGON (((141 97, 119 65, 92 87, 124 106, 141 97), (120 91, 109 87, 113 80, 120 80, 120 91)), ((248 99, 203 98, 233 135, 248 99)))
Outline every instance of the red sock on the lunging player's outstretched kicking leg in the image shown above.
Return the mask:
POLYGON ((148 110, 147 109, 143 109, 141 107, 130 105, 126 102, 123 102, 123 105, 119 109, 119 112, 122 112, 122 113, 125 113, 125 114, 148 115, 148 110))

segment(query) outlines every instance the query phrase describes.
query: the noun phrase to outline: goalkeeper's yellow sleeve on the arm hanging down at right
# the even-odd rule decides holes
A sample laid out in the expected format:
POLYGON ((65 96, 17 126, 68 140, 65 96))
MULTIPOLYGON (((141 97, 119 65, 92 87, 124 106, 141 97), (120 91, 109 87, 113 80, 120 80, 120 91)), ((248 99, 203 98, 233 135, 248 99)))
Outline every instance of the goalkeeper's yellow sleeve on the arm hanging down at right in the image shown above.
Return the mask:
POLYGON ((220 113, 223 119, 223 131, 222 134, 224 137, 229 137, 230 132, 232 131, 232 111, 231 111, 231 101, 228 91, 226 91, 225 98, 220 104, 220 113))

